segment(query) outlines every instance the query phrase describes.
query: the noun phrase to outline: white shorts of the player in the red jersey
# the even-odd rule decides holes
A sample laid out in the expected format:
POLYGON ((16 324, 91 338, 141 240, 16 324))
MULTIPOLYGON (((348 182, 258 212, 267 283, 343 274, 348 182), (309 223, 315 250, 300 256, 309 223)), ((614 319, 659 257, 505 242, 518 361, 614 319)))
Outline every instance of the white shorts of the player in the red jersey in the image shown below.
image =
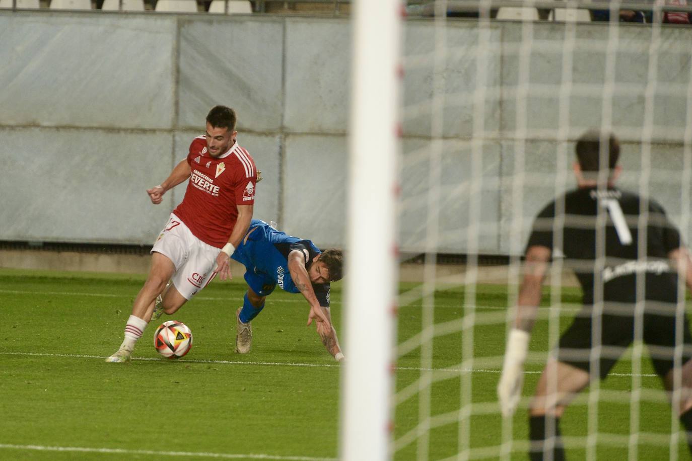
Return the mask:
POLYGON ((175 274, 171 281, 176 290, 189 300, 216 276, 216 258, 221 250, 199 240, 178 216, 171 213, 156 238, 153 252, 173 261, 175 274))

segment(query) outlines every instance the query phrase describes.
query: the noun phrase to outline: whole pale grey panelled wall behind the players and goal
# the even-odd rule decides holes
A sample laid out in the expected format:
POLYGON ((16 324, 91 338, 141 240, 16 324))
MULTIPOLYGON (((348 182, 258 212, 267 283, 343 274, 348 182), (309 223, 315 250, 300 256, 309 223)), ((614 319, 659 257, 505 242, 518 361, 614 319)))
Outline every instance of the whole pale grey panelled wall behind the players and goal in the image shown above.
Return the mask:
MULTIPOLYGON (((203 132, 208 109, 226 104, 237 110, 239 141, 264 176, 255 217, 276 220, 323 247, 345 246, 350 33, 346 19, 0 12, 0 161, 6 168, 0 240, 152 243, 184 187, 158 207, 145 189, 184 158, 190 140, 203 132)), ((483 136, 476 141, 483 152, 478 251, 486 254, 521 252, 523 242, 509 239, 518 192, 535 198, 523 200, 520 225, 527 231, 556 190, 554 181, 532 175, 558 167, 564 32, 552 23, 534 24, 527 106, 519 111, 526 116, 518 120, 521 33, 521 24, 493 23, 493 53, 483 57, 483 136), (529 133, 526 142, 523 133, 529 133), (525 148, 519 168, 518 146, 525 148), (519 191, 517 171, 525 172, 519 191)), ((623 140, 620 184, 636 190, 650 30, 619 28, 614 75, 605 72, 608 33, 607 23, 578 29, 568 138, 600 123, 601 93, 594 88, 612 84, 612 124, 623 140)), ((650 191, 678 223, 677 133, 684 132, 692 31, 660 33, 666 53, 659 56, 658 84, 649 88, 655 102, 650 191)), ((434 34, 430 21, 409 21, 406 54, 432 53, 434 34)), ((443 82, 445 95, 437 247, 467 251, 466 232, 459 229, 466 229, 468 216, 473 124, 481 121, 473 101, 477 57, 465 51, 478 40, 475 21, 450 21, 444 68, 407 62, 404 153, 401 164, 392 165, 401 169, 405 251, 425 244, 435 82, 443 82)), ((567 149, 571 153, 573 144, 567 149)), ((574 185, 570 174, 565 178, 574 185)), ((691 232, 684 232, 690 241, 691 232)))

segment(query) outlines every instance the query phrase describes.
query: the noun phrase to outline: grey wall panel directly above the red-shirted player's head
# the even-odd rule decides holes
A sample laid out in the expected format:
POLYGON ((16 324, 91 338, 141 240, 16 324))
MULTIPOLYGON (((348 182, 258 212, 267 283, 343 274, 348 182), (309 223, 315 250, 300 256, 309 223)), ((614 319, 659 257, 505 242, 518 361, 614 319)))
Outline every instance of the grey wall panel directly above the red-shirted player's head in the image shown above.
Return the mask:
POLYGON ((280 21, 181 21, 179 126, 203 127, 209 109, 224 104, 238 129, 279 130, 283 30, 280 21))

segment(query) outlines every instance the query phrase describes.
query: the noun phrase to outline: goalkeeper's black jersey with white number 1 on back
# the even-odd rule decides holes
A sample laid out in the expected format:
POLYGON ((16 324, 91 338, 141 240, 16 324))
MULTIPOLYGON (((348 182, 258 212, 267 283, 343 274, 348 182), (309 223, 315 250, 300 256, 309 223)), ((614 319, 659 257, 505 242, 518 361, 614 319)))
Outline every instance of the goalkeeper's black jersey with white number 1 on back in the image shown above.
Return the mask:
POLYGON ((603 301, 635 302, 637 274, 645 277, 644 299, 675 302, 677 273, 667 255, 680 244, 680 233, 654 200, 588 187, 567 192, 540 211, 527 249, 542 245, 553 259, 564 257, 579 279, 584 304, 592 304, 601 290, 603 301), (639 254, 640 246, 646 254, 639 254))

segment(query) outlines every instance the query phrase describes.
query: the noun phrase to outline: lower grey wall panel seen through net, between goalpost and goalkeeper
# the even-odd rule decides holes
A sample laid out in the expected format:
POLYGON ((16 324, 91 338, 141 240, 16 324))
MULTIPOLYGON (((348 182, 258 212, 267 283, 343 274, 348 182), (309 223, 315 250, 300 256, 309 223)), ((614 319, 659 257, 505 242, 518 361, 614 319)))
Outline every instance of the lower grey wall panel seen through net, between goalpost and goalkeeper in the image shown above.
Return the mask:
POLYGON ((423 252, 432 242, 443 253, 468 247, 498 252, 500 145, 486 142, 474 151, 465 141, 410 140, 403 150, 401 250, 423 252), (437 206, 430 207, 431 201, 437 206))

